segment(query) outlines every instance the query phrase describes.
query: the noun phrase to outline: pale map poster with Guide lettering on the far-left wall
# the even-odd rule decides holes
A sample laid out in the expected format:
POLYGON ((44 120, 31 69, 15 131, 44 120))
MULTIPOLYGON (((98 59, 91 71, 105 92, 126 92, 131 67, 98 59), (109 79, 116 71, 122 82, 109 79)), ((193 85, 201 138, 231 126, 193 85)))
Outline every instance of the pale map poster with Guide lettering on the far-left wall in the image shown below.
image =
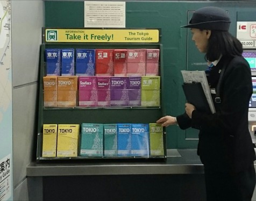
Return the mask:
POLYGON ((0 201, 12 191, 11 0, 0 0, 0 201))

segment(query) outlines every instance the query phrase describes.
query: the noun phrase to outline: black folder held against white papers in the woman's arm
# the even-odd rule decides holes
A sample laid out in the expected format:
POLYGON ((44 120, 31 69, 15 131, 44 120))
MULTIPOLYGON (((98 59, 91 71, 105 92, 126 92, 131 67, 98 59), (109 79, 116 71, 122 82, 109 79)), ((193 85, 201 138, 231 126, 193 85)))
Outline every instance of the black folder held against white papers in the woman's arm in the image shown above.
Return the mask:
POLYGON ((182 84, 182 88, 187 102, 194 105, 196 110, 211 113, 201 82, 184 83, 182 84))

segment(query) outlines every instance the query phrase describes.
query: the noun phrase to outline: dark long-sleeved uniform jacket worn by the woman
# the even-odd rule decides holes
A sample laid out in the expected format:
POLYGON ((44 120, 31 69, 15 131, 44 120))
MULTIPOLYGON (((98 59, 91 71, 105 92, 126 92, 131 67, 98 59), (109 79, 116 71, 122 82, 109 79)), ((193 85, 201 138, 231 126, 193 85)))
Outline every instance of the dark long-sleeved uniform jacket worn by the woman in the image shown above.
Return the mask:
POLYGON ((221 103, 215 103, 216 113, 194 110, 190 119, 186 113, 177 116, 181 129, 200 130, 197 154, 205 167, 234 173, 247 169, 255 160, 248 130, 248 105, 252 95, 251 71, 241 57, 222 58, 208 76, 211 88, 216 88, 219 71, 225 71, 219 88, 221 103))

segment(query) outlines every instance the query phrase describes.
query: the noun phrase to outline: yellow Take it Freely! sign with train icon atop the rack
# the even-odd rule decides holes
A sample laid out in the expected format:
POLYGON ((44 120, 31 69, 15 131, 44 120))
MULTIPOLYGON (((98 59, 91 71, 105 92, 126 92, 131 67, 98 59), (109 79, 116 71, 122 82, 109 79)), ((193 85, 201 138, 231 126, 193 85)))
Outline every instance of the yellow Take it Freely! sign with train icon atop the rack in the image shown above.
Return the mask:
POLYGON ((159 30, 46 28, 45 42, 159 42, 159 30))

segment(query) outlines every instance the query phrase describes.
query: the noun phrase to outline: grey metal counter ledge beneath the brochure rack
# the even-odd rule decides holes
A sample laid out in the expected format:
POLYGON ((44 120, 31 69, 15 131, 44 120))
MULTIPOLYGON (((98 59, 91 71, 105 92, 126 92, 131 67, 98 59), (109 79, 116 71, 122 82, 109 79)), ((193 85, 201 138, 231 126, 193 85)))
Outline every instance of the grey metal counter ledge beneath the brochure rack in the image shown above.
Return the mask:
POLYGON ((27 176, 203 174, 196 149, 167 149, 160 162, 37 163, 26 168, 27 176))

